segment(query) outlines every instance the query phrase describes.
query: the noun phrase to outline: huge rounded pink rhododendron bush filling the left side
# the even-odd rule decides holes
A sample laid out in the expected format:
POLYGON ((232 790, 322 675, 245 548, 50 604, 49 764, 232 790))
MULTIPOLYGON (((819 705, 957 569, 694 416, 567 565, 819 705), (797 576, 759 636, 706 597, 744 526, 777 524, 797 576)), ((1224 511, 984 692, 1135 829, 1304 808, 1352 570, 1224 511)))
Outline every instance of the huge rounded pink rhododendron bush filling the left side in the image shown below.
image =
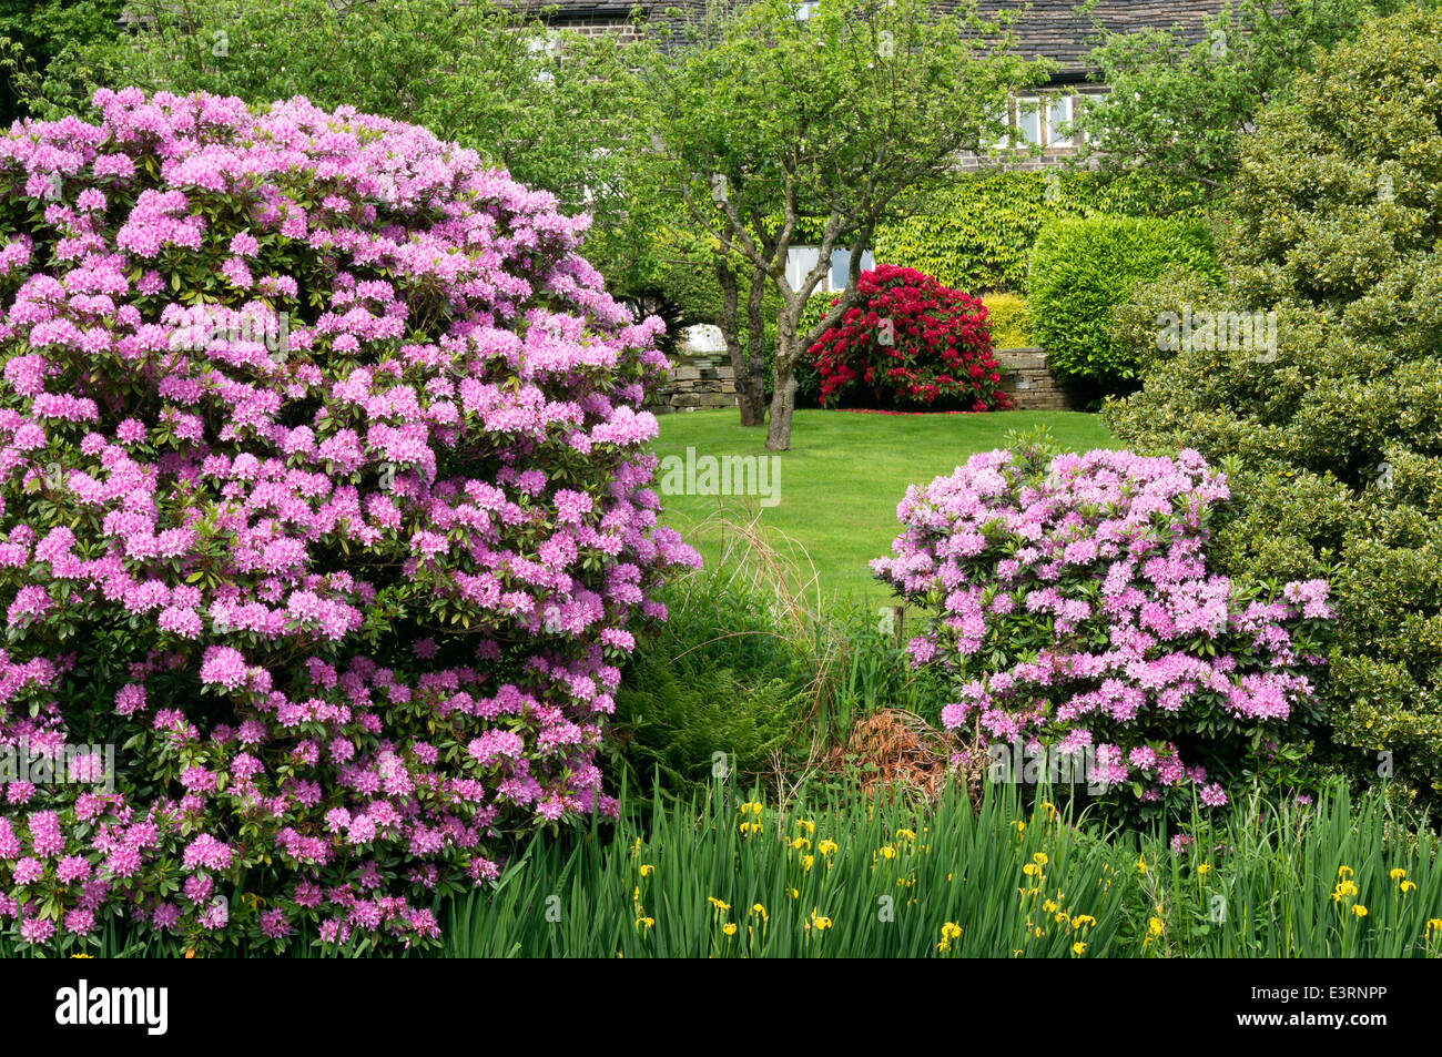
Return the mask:
POLYGON ((620 665, 698 564, 660 322, 423 128, 94 108, 0 138, 0 923, 434 942, 506 831, 614 812, 620 665))

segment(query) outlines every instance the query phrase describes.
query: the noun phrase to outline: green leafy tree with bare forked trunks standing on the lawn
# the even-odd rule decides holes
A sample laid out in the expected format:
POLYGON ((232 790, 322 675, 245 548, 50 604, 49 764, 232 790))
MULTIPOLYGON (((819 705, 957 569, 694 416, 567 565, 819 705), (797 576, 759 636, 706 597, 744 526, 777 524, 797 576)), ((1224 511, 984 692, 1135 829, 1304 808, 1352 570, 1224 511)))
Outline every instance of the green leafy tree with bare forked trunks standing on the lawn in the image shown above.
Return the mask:
POLYGON ((955 179, 959 151, 1002 134, 1008 94, 1045 74, 1011 55, 1004 27, 978 20, 973 6, 940 16, 927 0, 820 0, 800 14, 792 0, 718 0, 679 46, 653 36, 632 59, 660 186, 714 239, 747 424, 764 421, 767 288, 780 301, 766 438, 777 451, 790 447, 796 368, 851 307, 877 225, 955 179), (786 265, 796 245, 818 245, 819 258, 793 288, 786 265), (802 333, 808 298, 839 248, 851 252, 845 291, 802 333))

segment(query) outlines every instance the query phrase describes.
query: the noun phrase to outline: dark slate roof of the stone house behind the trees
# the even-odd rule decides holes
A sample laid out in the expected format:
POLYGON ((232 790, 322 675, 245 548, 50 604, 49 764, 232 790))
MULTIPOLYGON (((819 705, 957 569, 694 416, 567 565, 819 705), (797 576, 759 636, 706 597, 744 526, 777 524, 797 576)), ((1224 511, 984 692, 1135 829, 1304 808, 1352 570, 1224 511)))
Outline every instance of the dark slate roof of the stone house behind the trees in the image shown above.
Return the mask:
MULTIPOLYGON (((946 10, 956 10, 956 0, 937 0, 946 10)), ((626 19, 636 7, 646 17, 663 19, 666 9, 699 12, 705 0, 549 0, 559 25, 584 19, 626 19)), ((1025 58, 1047 58, 1060 63, 1056 79, 1076 81, 1087 72, 1092 22, 1076 13, 1077 0, 979 0, 978 14, 992 20, 999 12, 1018 14, 1012 23, 1017 52, 1025 58)), ((1216 14, 1221 0, 1099 0, 1096 19, 1107 29, 1133 33, 1146 29, 1178 30, 1188 40, 1206 36, 1203 19, 1216 14)))

